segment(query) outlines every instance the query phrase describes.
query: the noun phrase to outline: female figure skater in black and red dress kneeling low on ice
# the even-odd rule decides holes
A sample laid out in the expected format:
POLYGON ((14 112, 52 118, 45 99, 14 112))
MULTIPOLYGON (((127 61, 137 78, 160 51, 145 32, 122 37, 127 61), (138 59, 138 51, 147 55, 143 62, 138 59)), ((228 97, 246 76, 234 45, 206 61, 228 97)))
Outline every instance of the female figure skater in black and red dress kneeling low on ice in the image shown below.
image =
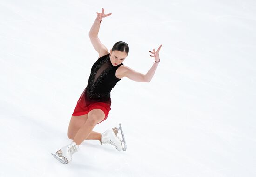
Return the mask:
POLYGON ((111 109, 110 91, 116 83, 122 77, 128 77, 137 82, 150 82, 160 62, 158 53, 162 45, 157 51, 155 49, 153 49, 153 52, 149 51, 153 54, 150 56, 155 58, 155 62, 147 74, 141 74, 123 65, 123 61, 129 52, 128 44, 125 42, 119 41, 115 43, 110 52, 108 52, 108 49, 101 43, 97 35, 102 18, 109 15, 111 13, 105 15, 104 8, 102 8, 102 13, 97 13, 89 32, 90 40, 94 49, 99 53, 99 57, 92 66, 88 85, 77 101, 68 126, 68 138, 73 139, 73 141, 71 144, 62 147, 55 154, 52 154, 63 164, 71 162, 72 154, 79 151, 79 145, 85 139, 99 140, 101 144, 109 143, 114 145, 119 151, 125 150, 122 147, 122 141, 116 136, 118 133, 117 128, 108 129, 102 134, 92 130, 97 124, 107 119, 108 112, 111 109))

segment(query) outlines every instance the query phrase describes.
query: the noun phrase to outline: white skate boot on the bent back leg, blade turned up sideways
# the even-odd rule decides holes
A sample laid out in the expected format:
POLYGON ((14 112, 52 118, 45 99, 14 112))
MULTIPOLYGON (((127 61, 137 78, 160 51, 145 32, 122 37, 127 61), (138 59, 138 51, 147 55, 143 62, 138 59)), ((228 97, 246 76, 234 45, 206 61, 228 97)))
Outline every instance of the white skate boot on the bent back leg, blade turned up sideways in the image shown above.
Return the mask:
POLYGON ((104 133, 102 133, 101 145, 102 144, 107 144, 107 143, 111 144, 111 145, 114 145, 115 148, 118 151, 121 151, 121 150, 125 151, 126 150, 126 142, 125 142, 125 139, 124 139, 124 134, 123 134, 123 131, 122 131, 121 124, 119 124, 119 128, 115 127, 115 128, 112 128, 112 129, 108 129, 104 133), (121 130, 122 138, 123 138, 122 141, 117 136, 118 130, 121 130), (123 147, 122 142, 124 143, 124 147, 123 147))

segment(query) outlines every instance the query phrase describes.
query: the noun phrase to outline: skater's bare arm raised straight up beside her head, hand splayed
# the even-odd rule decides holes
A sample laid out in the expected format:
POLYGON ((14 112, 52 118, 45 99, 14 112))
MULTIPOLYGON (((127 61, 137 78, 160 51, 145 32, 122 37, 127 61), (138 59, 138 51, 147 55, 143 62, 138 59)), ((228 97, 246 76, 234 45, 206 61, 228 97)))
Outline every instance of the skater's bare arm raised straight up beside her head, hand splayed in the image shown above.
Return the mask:
POLYGON ((108 49, 101 43, 100 39, 98 38, 98 33, 100 30, 102 18, 107 17, 111 14, 112 13, 108 13, 107 15, 105 15, 104 8, 102 8, 102 13, 97 13, 97 17, 89 32, 91 43, 93 44, 94 49, 99 53, 99 57, 109 53, 108 49))

